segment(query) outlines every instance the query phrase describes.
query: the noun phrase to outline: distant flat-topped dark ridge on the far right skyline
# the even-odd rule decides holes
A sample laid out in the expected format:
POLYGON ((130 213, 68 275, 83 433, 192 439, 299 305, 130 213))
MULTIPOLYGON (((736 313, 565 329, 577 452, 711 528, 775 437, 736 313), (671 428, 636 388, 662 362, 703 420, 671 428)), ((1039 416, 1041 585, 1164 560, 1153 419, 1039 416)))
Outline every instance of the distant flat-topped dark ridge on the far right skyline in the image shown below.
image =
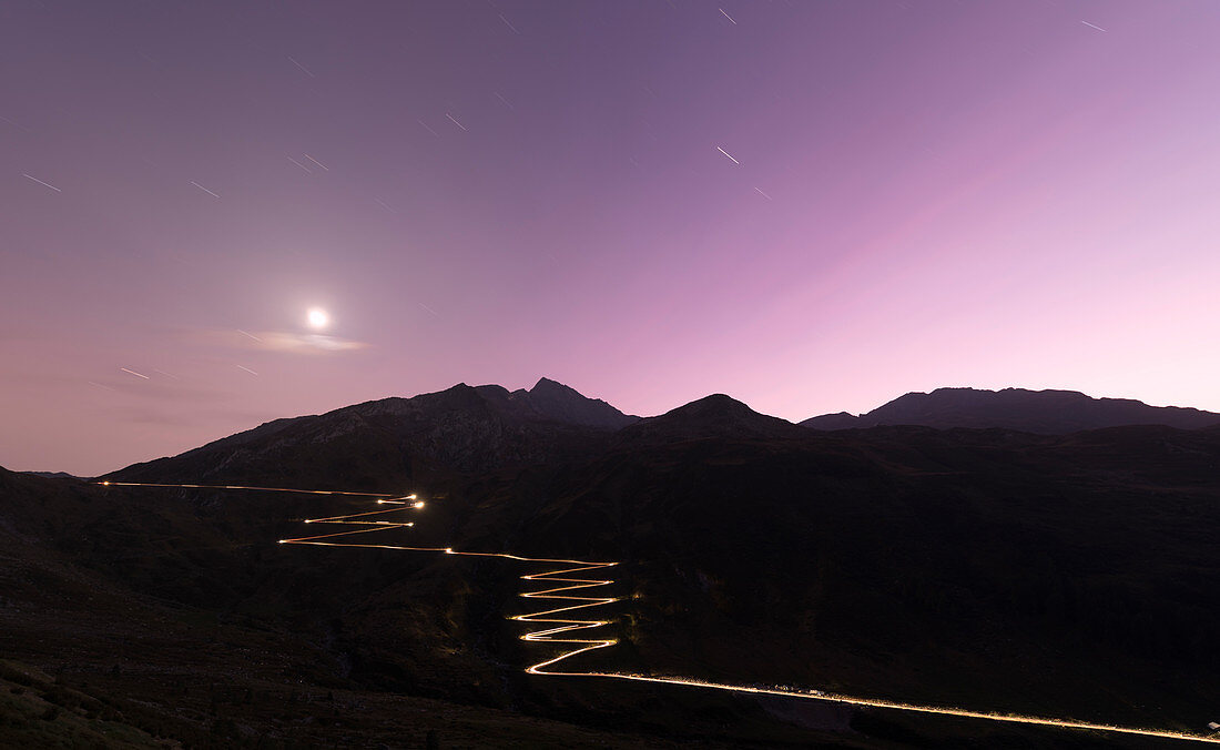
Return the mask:
POLYGON ((1165 424, 1197 429, 1220 424, 1220 413, 1177 406, 1149 406, 1132 399, 1093 399, 1075 390, 980 390, 938 388, 909 393, 865 415, 822 415, 802 422, 814 429, 849 429, 881 424, 919 424, 1019 429, 1041 434, 1066 434, 1127 424, 1165 424))

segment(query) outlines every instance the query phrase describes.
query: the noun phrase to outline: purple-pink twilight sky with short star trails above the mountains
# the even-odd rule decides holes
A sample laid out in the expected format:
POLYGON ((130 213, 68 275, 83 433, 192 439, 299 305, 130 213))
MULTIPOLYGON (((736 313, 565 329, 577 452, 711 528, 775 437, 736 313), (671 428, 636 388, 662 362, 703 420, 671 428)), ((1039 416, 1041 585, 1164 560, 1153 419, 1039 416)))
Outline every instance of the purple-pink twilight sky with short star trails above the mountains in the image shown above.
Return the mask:
POLYGON ((543 376, 644 416, 1220 411, 1218 33, 1209 0, 0 4, 0 465, 543 376))

